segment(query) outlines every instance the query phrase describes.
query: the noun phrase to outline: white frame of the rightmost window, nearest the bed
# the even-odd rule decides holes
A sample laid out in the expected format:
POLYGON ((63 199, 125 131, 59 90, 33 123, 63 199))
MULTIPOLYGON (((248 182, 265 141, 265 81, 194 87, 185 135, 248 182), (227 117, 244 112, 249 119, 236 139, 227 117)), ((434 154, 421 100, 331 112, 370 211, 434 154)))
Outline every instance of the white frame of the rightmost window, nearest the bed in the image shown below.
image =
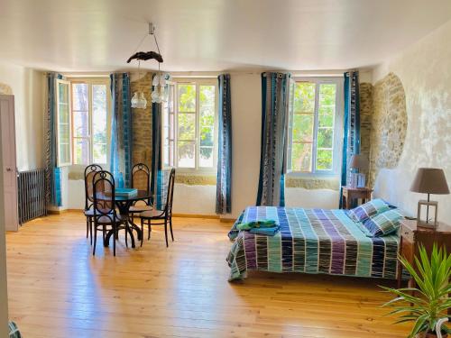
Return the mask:
POLYGON ((288 171, 293 176, 298 177, 337 177, 340 175, 342 145, 343 145, 343 128, 344 128, 344 100, 343 100, 343 78, 342 77, 296 77, 292 78, 290 86, 290 114, 289 114, 289 128, 288 128, 288 171), (292 104, 294 100, 293 88, 297 82, 315 83, 315 112, 314 112, 314 130, 313 130, 313 145, 312 145, 312 171, 296 171, 291 170, 291 149, 292 149, 292 119, 293 109, 292 104), (319 86, 322 84, 336 85, 336 113, 334 117, 334 148, 332 153, 332 169, 320 170, 317 169, 317 148, 318 148, 318 102, 319 102, 319 86))

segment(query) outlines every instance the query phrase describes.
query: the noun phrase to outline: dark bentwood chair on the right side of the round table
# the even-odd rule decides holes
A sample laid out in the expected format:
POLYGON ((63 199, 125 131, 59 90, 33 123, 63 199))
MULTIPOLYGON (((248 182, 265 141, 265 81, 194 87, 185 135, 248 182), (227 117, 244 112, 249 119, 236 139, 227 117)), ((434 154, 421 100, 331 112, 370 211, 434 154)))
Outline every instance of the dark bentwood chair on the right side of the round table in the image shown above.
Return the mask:
MULTIPOLYGON (((162 210, 153 209, 150 211, 144 211, 140 214, 141 218, 141 232, 144 233, 144 224, 148 226, 147 239, 151 239, 152 225, 164 225, 164 237, 166 240, 166 247, 168 247, 168 224, 170 225, 170 237, 174 242, 174 234, 172 233, 172 200, 174 197, 174 182, 175 182, 175 169, 170 170, 170 177, 168 182, 166 204, 162 207, 162 210)), ((143 237, 141 237, 141 246, 143 246, 143 237)))

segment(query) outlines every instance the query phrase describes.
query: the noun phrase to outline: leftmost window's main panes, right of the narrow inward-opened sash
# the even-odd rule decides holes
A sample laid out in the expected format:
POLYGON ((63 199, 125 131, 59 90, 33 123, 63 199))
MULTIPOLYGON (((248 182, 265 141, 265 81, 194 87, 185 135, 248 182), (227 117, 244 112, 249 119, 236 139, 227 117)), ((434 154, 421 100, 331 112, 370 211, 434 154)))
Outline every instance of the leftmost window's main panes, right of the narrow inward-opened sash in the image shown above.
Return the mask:
POLYGON ((106 164, 109 129, 108 80, 73 79, 71 93, 73 164, 106 164))

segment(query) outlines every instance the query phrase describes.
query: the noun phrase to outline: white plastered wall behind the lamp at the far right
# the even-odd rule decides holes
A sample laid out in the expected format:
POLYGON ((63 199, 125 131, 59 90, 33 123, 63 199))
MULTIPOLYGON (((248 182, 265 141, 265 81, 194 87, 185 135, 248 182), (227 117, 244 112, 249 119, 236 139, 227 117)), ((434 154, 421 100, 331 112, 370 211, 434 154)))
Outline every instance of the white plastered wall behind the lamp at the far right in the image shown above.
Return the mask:
MULTIPOLYGON (((451 22, 374 69, 373 81, 394 72, 406 93, 407 136, 396 169, 382 169, 374 196, 382 196, 416 215, 425 196, 410 192, 419 167, 445 169, 451 183, 451 22)), ((450 223, 451 195, 437 200, 439 220, 450 223)))

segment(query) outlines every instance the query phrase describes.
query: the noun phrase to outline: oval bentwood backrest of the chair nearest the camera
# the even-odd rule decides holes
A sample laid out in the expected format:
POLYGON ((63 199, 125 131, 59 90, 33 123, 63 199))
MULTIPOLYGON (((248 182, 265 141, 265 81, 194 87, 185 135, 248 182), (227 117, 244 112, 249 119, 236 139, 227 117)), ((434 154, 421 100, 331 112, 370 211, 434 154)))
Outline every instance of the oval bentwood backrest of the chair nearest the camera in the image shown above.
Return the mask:
POLYGON ((97 171, 94 175, 93 199, 95 216, 115 214, 115 178, 109 171, 97 171))

